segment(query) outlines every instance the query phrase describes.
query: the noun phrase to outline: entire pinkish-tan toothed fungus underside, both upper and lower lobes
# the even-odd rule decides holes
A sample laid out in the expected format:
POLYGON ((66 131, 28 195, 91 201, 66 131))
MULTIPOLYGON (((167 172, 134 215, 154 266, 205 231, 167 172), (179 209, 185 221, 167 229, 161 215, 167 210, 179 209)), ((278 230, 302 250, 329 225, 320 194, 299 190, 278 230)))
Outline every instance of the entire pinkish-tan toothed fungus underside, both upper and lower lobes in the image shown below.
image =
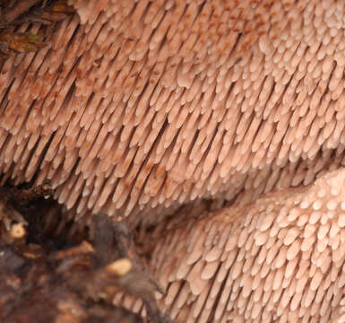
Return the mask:
POLYGON ((1 65, 3 182, 51 179, 79 223, 234 200, 157 237, 163 306, 181 322, 340 318, 345 1, 73 5, 50 31, 22 25, 49 45, 1 65))

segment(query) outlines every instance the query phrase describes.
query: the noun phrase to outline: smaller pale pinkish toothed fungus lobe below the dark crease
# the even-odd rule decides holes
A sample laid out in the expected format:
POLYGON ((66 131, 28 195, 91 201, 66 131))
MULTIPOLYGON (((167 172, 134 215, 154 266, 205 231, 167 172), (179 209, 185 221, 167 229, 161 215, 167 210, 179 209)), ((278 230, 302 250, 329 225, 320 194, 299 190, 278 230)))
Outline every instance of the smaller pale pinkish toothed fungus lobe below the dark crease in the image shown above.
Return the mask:
POLYGON ((177 322, 344 322, 345 170, 161 223, 150 239, 160 305, 177 322))

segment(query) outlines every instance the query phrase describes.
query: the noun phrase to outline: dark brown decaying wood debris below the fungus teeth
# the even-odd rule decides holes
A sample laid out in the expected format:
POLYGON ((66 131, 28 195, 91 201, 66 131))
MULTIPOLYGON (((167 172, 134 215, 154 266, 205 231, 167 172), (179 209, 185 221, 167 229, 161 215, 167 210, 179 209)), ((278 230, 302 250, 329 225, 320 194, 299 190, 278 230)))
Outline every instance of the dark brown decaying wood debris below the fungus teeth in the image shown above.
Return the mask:
POLYGON ((77 243, 49 235, 32 242, 30 214, 44 213, 40 205, 51 194, 48 182, 0 188, 0 320, 141 322, 113 306, 116 293, 125 292, 142 299, 151 322, 172 322, 159 310, 154 292, 161 290, 136 254, 124 221, 99 214, 91 225, 93 239, 86 232, 77 243))

